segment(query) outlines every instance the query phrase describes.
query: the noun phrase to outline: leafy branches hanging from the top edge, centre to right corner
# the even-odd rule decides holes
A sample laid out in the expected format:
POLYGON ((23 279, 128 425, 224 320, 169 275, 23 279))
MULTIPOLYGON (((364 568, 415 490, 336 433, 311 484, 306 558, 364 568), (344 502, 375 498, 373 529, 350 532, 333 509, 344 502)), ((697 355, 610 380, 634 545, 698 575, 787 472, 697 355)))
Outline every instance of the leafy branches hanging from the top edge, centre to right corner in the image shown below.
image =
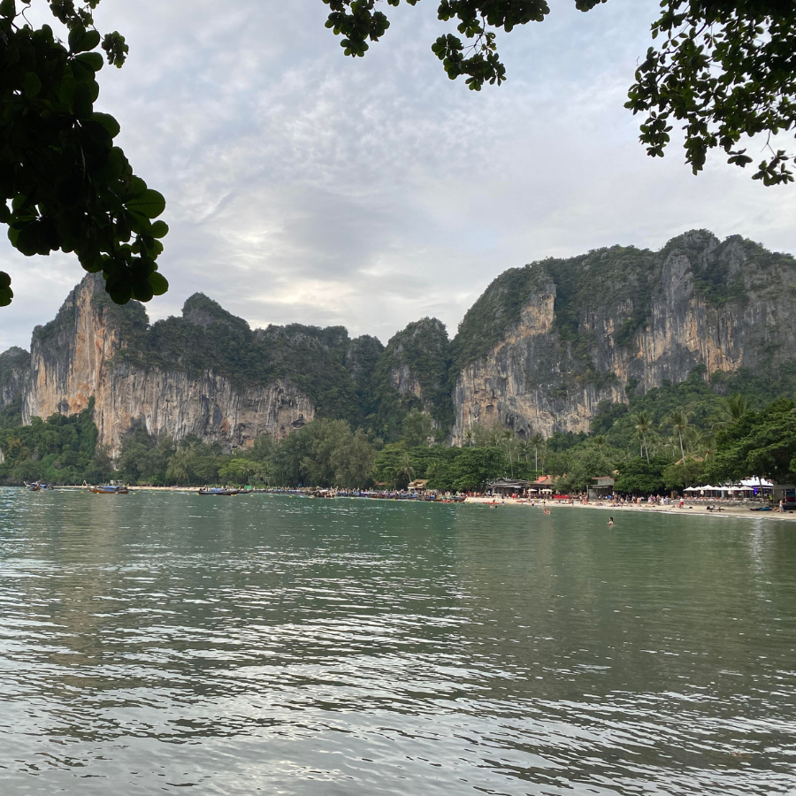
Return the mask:
MULTIPOLYGON (((324 0, 331 13, 326 27, 343 36, 346 55, 364 56, 390 23, 379 0, 324 0)), ((401 0, 387 0, 397 6, 401 0)), ((406 0, 416 5, 418 0, 406 0)), ((575 0, 590 11, 606 0, 575 0)), ((793 0, 662 0, 650 47, 636 70, 625 107, 644 113, 639 140, 652 157, 662 157, 671 122, 685 132, 685 161, 700 172, 710 149, 722 149, 728 163, 754 163, 739 148, 745 136, 769 135, 754 180, 765 185, 793 181, 792 155, 770 145, 771 136, 796 123, 796 3, 793 0)), ((541 22, 545 0, 440 0, 437 15, 454 20, 460 35, 440 36, 432 51, 451 80, 464 75, 469 88, 506 80, 495 30, 541 22), (463 39, 468 42, 466 45, 463 39)))

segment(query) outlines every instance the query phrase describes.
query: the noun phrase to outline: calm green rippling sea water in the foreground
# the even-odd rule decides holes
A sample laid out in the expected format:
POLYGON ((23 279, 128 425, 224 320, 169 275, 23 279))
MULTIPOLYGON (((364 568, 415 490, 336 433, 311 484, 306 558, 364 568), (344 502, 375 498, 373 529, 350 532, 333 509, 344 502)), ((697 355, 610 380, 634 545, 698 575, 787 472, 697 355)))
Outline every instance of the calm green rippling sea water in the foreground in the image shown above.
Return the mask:
POLYGON ((0 792, 796 792, 796 524, 0 490, 0 792))

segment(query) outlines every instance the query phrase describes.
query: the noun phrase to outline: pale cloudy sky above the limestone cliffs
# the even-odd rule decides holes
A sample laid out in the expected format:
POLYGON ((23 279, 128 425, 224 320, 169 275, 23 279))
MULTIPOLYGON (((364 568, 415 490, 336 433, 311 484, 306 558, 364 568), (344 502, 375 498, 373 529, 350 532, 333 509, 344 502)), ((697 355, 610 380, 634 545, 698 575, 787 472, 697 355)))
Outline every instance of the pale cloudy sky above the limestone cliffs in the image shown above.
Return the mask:
MULTIPOLYGON (((355 60, 322 0, 104 0, 98 27, 130 57, 103 69, 97 108, 168 202, 172 287, 151 319, 202 291, 252 326, 386 342, 424 316, 453 335, 495 276, 545 256, 657 249, 692 228, 796 252, 796 188, 721 157, 693 177, 676 143, 663 160, 640 146, 623 103, 657 0, 587 14, 552 0, 546 22, 501 35, 509 80, 480 93, 433 56, 436 5, 385 4, 393 26, 355 60)), ((0 269, 16 294, 0 348, 27 348, 83 272, 4 235, 0 269)))

